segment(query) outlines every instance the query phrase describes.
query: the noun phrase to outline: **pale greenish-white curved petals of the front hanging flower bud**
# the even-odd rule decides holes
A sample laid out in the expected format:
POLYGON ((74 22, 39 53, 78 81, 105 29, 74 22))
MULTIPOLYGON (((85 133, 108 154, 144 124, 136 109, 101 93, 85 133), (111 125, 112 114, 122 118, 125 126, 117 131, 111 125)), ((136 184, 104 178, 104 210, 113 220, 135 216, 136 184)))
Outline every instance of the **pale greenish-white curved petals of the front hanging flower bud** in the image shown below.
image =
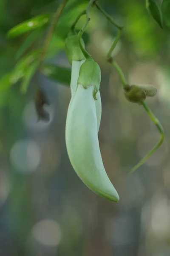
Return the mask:
POLYGON ((117 202, 119 195, 105 172, 100 153, 93 93, 93 83, 87 87, 78 84, 71 98, 65 128, 68 157, 75 172, 89 189, 117 202))

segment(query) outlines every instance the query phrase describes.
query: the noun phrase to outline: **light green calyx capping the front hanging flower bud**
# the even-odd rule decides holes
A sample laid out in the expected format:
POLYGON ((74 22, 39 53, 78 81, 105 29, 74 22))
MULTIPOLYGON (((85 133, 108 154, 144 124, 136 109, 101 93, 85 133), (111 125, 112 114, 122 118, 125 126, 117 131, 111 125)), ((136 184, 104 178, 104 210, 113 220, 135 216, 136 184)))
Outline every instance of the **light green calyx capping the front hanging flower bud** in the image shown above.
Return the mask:
POLYGON ((77 84, 81 84, 83 88, 94 87, 94 99, 96 99, 96 93, 99 91, 101 81, 101 70, 99 64, 97 64, 91 57, 87 58, 80 67, 79 79, 77 84))

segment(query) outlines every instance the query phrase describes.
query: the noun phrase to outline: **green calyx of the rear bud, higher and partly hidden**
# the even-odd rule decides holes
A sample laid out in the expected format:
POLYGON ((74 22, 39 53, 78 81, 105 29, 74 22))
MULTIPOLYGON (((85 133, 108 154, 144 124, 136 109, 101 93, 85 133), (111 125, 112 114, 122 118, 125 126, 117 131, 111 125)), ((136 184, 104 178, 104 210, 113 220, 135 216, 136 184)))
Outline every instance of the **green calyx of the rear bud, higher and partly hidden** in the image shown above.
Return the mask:
MULTIPOLYGON (((83 47, 85 47, 84 41, 81 39, 83 47)), ((65 39, 65 52, 68 57, 68 61, 82 61, 85 59, 85 56, 82 53, 82 50, 79 46, 79 38, 78 35, 70 34, 65 39)))

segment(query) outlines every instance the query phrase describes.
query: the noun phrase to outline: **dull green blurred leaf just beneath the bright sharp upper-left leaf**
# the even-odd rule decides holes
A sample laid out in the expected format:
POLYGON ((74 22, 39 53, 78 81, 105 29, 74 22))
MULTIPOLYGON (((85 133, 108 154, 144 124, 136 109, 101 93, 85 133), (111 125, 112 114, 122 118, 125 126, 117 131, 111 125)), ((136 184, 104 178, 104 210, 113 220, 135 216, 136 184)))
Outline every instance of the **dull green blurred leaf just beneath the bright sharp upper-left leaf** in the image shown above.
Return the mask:
POLYGON ((33 32, 31 32, 30 35, 28 35, 28 37, 26 38, 26 40, 24 41, 20 49, 17 51, 16 59, 19 59, 23 55, 23 53, 26 51, 26 49, 28 49, 28 47, 30 47, 31 44, 33 44, 34 41, 36 41, 36 39, 40 37, 41 32, 42 32, 41 29, 40 30, 36 29, 33 32))

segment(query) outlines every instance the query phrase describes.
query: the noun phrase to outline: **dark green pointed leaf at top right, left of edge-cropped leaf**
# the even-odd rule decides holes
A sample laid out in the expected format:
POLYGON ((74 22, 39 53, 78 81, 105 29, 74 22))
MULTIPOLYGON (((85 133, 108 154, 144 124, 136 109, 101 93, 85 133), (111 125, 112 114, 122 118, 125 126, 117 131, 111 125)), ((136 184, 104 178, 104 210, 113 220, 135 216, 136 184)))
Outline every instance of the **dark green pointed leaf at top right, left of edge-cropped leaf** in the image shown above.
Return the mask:
POLYGON ((162 28, 162 14, 158 3, 155 0, 146 0, 146 8, 150 15, 152 15, 153 19, 156 20, 162 28))

